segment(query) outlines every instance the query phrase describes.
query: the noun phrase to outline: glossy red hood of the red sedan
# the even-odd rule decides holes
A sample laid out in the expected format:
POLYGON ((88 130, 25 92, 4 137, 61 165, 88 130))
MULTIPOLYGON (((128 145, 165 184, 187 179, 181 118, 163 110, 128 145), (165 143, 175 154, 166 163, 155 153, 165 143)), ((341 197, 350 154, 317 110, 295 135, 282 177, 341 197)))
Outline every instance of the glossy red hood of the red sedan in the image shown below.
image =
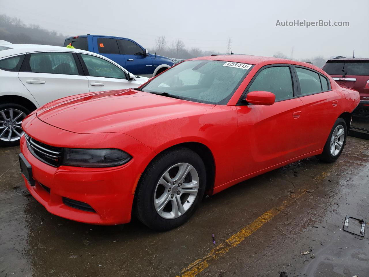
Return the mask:
POLYGON ((62 98, 38 109, 37 117, 74 133, 127 133, 145 125, 202 114, 212 107, 128 89, 62 98))

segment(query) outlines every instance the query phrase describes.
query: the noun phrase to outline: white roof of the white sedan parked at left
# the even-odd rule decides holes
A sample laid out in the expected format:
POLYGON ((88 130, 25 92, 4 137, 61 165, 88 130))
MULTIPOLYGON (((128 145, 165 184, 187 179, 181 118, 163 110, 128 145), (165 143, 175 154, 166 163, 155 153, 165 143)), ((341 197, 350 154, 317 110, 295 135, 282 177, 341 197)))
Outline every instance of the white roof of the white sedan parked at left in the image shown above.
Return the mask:
POLYGON ((64 52, 79 52, 91 54, 89 51, 81 49, 71 49, 62 46, 53 45, 42 45, 42 44, 7 44, 3 45, 11 49, 0 51, 0 58, 8 57, 12 55, 27 53, 27 52, 38 52, 38 51, 64 51, 64 52))

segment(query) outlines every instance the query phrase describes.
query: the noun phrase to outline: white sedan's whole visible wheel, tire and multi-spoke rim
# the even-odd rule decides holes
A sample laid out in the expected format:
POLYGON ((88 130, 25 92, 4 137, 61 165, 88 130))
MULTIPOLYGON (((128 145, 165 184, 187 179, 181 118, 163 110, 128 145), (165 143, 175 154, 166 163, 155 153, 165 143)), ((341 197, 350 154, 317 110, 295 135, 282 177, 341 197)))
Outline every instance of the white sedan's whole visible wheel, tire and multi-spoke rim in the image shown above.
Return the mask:
POLYGON ((0 105, 0 146, 16 146, 19 144, 24 132, 22 129, 23 119, 30 111, 18 104, 0 105))

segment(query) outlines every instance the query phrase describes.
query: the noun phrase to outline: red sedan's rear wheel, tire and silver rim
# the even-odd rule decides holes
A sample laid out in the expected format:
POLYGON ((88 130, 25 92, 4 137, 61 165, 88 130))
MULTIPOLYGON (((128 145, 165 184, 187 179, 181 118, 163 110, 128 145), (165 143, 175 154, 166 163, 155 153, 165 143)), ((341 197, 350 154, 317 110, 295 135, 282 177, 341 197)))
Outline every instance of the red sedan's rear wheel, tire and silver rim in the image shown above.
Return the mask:
POLYGON ((341 117, 336 120, 323 148, 323 153, 317 155, 320 161, 333 163, 342 154, 346 144, 347 127, 346 122, 341 117))

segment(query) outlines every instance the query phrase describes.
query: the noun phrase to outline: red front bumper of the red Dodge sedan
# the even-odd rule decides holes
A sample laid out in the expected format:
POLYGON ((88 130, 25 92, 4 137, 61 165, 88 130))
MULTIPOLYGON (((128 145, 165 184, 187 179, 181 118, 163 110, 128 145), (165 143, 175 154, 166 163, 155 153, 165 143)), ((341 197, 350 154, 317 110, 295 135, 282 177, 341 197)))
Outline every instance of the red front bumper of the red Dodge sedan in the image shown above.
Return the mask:
MULTIPOLYGON (((55 129, 54 134, 63 133, 64 141, 66 138, 77 140, 80 136, 82 141, 86 141, 86 136, 90 136, 90 140, 98 141, 99 145, 94 148, 108 148, 106 142, 93 139, 98 134, 76 134, 67 132, 56 127, 50 126, 35 117, 32 120, 30 128, 25 126, 25 131, 31 136, 37 137, 42 134, 50 134, 51 129, 55 129), (36 128, 35 128, 36 127, 36 128), (34 130, 38 129, 37 134, 34 130), (58 132, 56 132, 58 130, 58 132), (68 134, 67 134, 68 133, 68 134), (101 146, 100 146, 101 144, 101 146)), ((106 134, 105 134, 106 135, 106 134)), ((117 136, 118 134, 113 134, 117 136)), ((120 141, 125 141, 127 148, 125 151, 129 153, 134 148, 138 150, 137 155, 127 164, 112 168, 82 168, 63 166, 52 167, 38 160, 28 150, 25 138, 20 141, 21 152, 26 160, 32 166, 32 176, 35 179, 35 186, 26 181, 25 184, 31 195, 40 202, 47 211, 63 218, 76 220, 84 223, 114 225, 128 223, 131 220, 132 203, 134 199, 134 191, 144 170, 146 157, 152 157, 154 153, 148 147, 139 143, 134 138, 125 134, 119 134, 120 141), (133 148, 132 148, 133 147, 133 148), (147 156, 146 156, 147 155, 147 156), (140 158, 142 157, 142 158, 140 158), (88 204, 93 211, 81 210, 65 204, 65 199, 72 199, 88 204)), ((62 145, 61 136, 56 135, 54 143, 43 141, 46 144, 65 147, 62 145), (59 137, 59 138, 58 138, 59 137)), ((81 141, 81 143, 82 143, 81 141)), ((118 140, 117 140, 118 141, 118 140)), ((83 144, 83 143, 82 143, 83 144)), ((118 148, 118 145, 110 144, 110 148, 118 148)), ((90 146, 78 148, 90 148, 90 146)), ((73 144, 75 147, 75 144, 73 144)), ((132 153, 132 152, 131 152, 132 153)))

